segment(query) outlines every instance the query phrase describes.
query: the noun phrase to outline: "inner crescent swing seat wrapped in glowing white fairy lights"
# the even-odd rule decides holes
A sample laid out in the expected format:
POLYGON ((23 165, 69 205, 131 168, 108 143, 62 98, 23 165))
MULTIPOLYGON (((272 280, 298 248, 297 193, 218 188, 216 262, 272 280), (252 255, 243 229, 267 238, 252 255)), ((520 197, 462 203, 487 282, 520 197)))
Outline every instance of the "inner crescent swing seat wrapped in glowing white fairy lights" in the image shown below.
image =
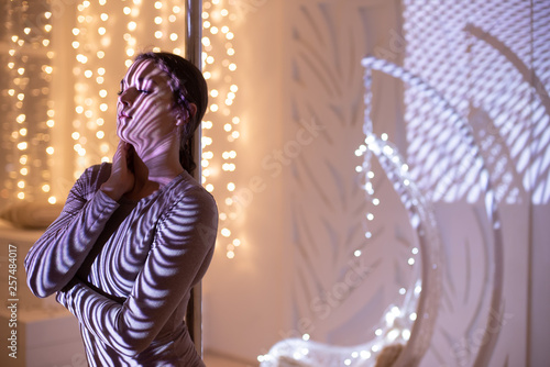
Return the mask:
POLYGON ((372 156, 376 156, 387 178, 393 184, 405 207, 411 227, 418 236, 418 247, 410 248, 409 265, 415 265, 411 281, 405 289, 403 302, 389 304, 373 338, 355 346, 333 346, 305 338, 287 338, 275 344, 271 351, 258 357, 262 367, 290 366, 374 366, 385 348, 396 348, 399 353, 392 366, 418 365, 426 353, 436 322, 440 294, 439 235, 429 203, 425 200, 408 175, 408 166, 397 148, 373 133, 371 120, 372 89, 370 58, 363 60, 365 67, 365 121, 363 131, 365 144, 358 149, 364 155, 361 171, 364 173, 364 189, 367 199, 374 193, 370 181, 372 156), (416 255, 420 262, 415 260, 416 255))

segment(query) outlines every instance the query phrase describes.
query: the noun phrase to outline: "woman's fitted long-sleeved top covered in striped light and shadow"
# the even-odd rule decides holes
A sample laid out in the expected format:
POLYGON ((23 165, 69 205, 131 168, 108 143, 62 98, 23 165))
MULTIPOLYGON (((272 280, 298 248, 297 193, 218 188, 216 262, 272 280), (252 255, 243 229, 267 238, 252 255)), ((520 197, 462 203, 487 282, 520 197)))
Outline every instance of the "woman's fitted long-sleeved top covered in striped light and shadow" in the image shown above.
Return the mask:
POLYGON ((184 322, 212 258, 218 212, 187 173, 139 201, 99 190, 88 168, 25 258, 28 285, 79 321, 90 366, 204 366, 184 322))

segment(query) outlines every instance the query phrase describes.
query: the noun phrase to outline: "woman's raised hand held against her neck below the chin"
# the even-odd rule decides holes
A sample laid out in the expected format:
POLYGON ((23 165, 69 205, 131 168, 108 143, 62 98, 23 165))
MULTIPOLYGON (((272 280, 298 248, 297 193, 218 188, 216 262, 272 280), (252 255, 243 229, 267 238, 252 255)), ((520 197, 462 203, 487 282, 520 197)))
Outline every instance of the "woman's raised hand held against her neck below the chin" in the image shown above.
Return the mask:
MULTIPOLYGON (((132 191, 134 188, 134 163, 136 160, 141 162, 136 156, 131 144, 120 141, 114 157, 112 158, 111 176, 101 185, 101 191, 107 193, 111 199, 119 201, 124 193, 132 191)), ((143 164, 143 162, 141 162, 141 164, 143 164)))

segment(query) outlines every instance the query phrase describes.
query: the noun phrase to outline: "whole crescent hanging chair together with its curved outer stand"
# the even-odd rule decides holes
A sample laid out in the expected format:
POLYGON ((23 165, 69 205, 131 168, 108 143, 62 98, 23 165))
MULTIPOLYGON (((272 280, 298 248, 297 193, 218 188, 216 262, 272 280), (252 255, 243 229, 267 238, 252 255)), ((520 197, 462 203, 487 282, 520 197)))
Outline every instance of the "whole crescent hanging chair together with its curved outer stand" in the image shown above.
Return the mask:
MULTIPOLYGON (((490 249, 491 279, 493 291, 491 310, 488 313, 484 340, 484 347, 477 352, 473 366, 486 366, 491 360, 496 340, 497 325, 502 322, 503 304, 503 238, 501 221, 497 212, 494 191, 490 181, 488 169, 485 166, 481 151, 475 143, 468 120, 461 116, 433 88, 420 78, 407 73, 402 67, 375 57, 365 57, 362 60, 365 67, 365 145, 360 147, 364 154, 361 171, 365 171, 365 190, 367 198, 373 194, 369 177, 371 158, 373 154, 378 159, 387 178, 392 181, 402 203, 407 210, 410 224, 419 240, 419 249, 413 248, 413 254, 419 253, 421 271, 416 268, 418 277, 406 290, 406 297, 400 307, 391 304, 376 329, 375 337, 365 344, 356 346, 332 346, 309 341, 308 337, 283 340, 275 344, 268 354, 261 356, 262 367, 290 367, 290 366, 373 366, 375 358, 384 347, 395 344, 405 344, 398 358, 392 366, 416 366, 426 353, 435 327, 440 294, 439 270, 439 236, 436 221, 430 211, 426 197, 422 194, 408 176, 408 166, 399 156, 395 146, 373 133, 371 120, 372 105, 372 70, 380 70, 407 82, 420 92, 430 97, 435 103, 442 104, 447 119, 460 132, 462 143, 469 149, 471 159, 461 164, 460 170, 465 171, 474 167, 479 171, 482 192, 484 193, 485 214, 493 232, 493 246, 490 249)), ((414 258, 411 257, 413 263, 414 258)), ((410 259, 409 259, 410 260, 410 259)), ((410 264, 410 263, 409 263, 410 264)))

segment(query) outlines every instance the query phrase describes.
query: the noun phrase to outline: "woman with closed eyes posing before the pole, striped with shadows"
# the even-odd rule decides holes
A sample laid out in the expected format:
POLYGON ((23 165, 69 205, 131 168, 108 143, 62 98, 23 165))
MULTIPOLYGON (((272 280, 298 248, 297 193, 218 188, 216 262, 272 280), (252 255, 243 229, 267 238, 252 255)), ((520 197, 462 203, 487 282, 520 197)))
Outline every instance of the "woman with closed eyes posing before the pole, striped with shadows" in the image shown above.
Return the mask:
POLYGON ((112 164, 88 168, 25 258, 28 283, 79 321, 90 366, 204 366, 183 321, 215 247, 212 197, 190 176, 201 73, 167 53, 121 81, 112 164))

